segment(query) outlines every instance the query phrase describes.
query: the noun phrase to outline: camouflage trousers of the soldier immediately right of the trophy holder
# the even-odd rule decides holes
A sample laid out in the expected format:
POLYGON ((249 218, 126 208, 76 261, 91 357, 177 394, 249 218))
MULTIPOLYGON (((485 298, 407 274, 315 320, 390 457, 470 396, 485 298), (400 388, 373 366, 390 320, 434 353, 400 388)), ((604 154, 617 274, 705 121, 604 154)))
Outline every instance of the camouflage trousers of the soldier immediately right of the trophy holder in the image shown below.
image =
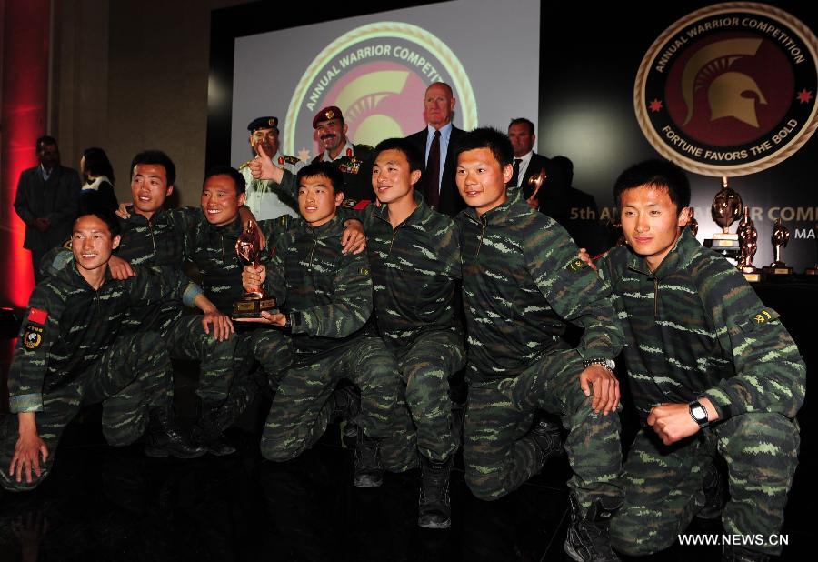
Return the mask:
POLYGON ((393 351, 404 383, 398 403, 404 411, 397 413, 403 428, 381 443, 381 461, 387 470, 403 472, 417 464, 417 452, 443 461, 460 447, 449 377, 463 368, 465 351, 463 336, 451 330, 425 332, 393 351))

